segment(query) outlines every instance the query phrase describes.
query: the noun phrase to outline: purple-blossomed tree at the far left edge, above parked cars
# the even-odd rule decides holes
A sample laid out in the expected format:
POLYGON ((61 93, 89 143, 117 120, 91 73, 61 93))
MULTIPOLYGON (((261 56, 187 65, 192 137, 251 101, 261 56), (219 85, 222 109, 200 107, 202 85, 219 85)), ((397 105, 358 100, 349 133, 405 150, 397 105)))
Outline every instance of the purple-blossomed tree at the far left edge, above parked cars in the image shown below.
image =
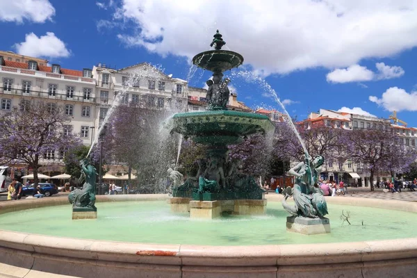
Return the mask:
POLYGON ((80 138, 63 133, 63 124, 69 122, 62 106, 43 101, 25 102, 19 110, 0 115, 0 163, 26 163, 33 169, 37 185, 38 170, 47 152, 64 154, 81 145, 80 138))

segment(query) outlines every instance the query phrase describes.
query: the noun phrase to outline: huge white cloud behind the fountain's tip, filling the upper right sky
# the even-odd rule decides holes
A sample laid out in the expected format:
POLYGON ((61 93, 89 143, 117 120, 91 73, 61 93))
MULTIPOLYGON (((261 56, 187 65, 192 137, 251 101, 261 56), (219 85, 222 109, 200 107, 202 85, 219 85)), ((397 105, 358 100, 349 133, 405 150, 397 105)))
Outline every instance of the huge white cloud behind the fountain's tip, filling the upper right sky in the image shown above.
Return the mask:
POLYGON ((417 1, 122 0, 113 17, 132 25, 122 42, 161 56, 192 58, 219 28, 226 47, 264 74, 348 67, 417 46, 417 1))

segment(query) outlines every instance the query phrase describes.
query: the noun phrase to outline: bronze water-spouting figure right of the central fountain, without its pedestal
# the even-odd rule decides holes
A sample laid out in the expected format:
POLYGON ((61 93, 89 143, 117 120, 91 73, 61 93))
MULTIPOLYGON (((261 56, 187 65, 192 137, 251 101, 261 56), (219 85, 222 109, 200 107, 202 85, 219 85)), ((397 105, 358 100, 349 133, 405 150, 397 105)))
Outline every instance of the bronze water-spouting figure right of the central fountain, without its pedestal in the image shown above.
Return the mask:
POLYGON ((292 190, 294 205, 291 206, 286 202, 290 197, 288 193, 282 200, 282 206, 295 216, 304 216, 306 218, 322 218, 327 214, 327 204, 323 197, 323 192, 314 185, 318 181, 322 164, 325 158, 311 156, 306 154, 304 162, 300 162, 288 171, 295 176, 295 184, 292 190))

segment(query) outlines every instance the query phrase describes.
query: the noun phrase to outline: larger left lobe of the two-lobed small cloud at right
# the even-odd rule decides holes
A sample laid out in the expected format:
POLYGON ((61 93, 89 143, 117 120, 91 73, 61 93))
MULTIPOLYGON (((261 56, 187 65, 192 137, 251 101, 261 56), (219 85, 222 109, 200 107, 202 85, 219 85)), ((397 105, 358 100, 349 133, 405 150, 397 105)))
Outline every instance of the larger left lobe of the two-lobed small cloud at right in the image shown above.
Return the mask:
POLYGON ((355 81, 370 81, 374 79, 374 73, 366 67, 351 65, 347 69, 336 69, 326 76, 327 82, 347 83, 355 81))

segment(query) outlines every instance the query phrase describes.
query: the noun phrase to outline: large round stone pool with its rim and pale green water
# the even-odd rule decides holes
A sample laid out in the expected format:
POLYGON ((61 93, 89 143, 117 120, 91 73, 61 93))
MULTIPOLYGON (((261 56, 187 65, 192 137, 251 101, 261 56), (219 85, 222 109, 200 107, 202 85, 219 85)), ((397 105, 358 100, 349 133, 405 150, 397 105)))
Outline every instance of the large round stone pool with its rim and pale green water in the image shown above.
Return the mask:
POLYGON ((332 233, 304 236, 266 198, 266 215, 215 220, 167 195, 97 196, 97 220, 70 220, 65 197, 0 202, 0 277, 415 277, 417 203, 326 198, 332 233))

